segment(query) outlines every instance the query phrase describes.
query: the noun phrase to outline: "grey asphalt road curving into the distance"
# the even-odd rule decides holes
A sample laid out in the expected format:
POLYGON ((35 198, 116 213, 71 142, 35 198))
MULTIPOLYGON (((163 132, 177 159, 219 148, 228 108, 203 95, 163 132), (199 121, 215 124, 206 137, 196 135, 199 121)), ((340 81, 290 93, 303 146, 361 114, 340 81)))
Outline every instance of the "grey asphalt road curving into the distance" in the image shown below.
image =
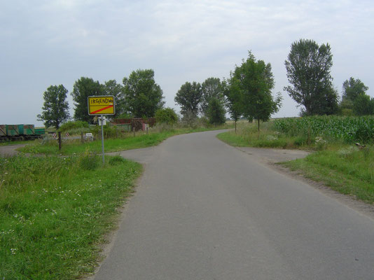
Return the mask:
POLYGON ((374 221, 216 139, 124 153, 146 164, 100 279, 374 279, 374 221))

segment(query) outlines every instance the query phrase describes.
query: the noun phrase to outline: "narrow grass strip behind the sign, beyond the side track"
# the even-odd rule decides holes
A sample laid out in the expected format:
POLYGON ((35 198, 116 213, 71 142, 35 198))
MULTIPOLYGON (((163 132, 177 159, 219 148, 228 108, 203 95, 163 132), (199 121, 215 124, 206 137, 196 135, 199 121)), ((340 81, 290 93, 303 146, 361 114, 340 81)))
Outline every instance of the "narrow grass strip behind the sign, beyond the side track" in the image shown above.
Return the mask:
MULTIPOLYGON (((174 130, 165 130, 161 132, 151 132, 145 134, 144 132, 137 132, 136 137, 133 134, 127 134, 125 138, 117 139, 105 139, 104 148, 105 152, 116 152, 125 151, 136 148, 147 148, 150 146, 155 146, 160 144, 165 139, 172 137, 177 134, 186 134, 192 132, 203 132, 208 130, 218 130, 231 127, 229 125, 220 127, 198 127, 192 128, 179 128, 174 130)), ((80 141, 68 141, 62 143, 62 151, 58 151, 57 141, 48 141, 43 143, 43 141, 34 141, 34 143, 29 144, 19 151, 23 153, 42 153, 47 155, 74 155, 79 153, 84 153, 85 151, 92 151, 95 153, 101 153, 102 151, 102 141, 96 140, 92 142, 86 142, 81 144, 80 141)))

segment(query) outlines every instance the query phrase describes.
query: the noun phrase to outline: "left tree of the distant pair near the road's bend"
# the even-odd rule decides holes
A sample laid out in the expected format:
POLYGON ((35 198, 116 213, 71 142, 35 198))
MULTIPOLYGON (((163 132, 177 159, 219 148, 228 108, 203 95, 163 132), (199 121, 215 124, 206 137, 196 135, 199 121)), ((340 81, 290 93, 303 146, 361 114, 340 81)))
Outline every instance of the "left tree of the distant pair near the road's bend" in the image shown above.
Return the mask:
POLYGON ((202 97, 202 88, 200 83, 186 82, 181 85, 181 89, 176 92, 174 102, 181 106, 181 114, 183 117, 197 118, 199 113, 199 104, 202 97))

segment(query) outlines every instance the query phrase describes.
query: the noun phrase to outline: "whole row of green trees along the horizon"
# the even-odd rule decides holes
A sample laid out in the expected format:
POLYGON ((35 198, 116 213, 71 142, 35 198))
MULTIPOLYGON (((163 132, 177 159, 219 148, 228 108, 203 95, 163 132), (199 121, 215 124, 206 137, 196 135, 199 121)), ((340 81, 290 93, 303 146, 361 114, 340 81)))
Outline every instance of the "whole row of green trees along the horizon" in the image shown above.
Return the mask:
MULTIPOLYGON (((368 87, 361 80, 349 78, 343 83, 342 99, 332 83, 331 46, 318 45, 313 40, 300 39, 291 44, 284 62, 289 83, 284 90, 301 107, 301 116, 313 115, 370 115, 374 113, 374 99, 366 94, 368 87)), ((226 110, 235 120, 247 118, 266 121, 282 105, 282 95, 273 96, 274 76, 270 63, 249 52, 242 64, 230 71, 228 78, 207 78, 203 83, 186 82, 176 92, 174 102, 181 107, 181 120, 191 124, 199 117, 209 123, 226 121, 226 110)), ((63 85, 51 85, 43 94, 42 113, 38 115, 46 127, 56 128, 69 120, 68 90, 63 85)), ((151 118, 162 116, 166 122, 175 120, 173 109, 164 109, 163 93, 155 83, 153 69, 138 69, 123 78, 122 84, 108 80, 103 84, 92 78, 81 77, 74 83, 74 120, 92 123, 88 115, 88 96, 113 95, 116 115, 113 118, 151 118)))

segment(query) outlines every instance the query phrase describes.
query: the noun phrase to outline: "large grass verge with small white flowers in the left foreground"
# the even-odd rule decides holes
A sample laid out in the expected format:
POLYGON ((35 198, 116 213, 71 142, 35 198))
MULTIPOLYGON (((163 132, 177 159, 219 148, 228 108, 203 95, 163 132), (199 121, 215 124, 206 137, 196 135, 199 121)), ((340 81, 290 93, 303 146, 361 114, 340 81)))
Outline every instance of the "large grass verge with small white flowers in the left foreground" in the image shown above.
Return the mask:
POLYGON ((78 279, 94 271, 141 165, 92 153, 0 158, 0 279, 78 279))

